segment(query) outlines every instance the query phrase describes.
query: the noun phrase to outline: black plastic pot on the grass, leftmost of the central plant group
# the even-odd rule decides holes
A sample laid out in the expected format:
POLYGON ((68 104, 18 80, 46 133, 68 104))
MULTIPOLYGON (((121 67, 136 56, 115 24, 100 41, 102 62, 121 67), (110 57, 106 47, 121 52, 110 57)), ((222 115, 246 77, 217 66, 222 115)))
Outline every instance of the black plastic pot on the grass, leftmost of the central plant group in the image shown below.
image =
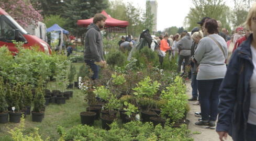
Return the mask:
POLYGON ((81 124, 92 125, 94 123, 96 113, 90 112, 90 111, 81 112, 80 117, 81 117, 81 124))

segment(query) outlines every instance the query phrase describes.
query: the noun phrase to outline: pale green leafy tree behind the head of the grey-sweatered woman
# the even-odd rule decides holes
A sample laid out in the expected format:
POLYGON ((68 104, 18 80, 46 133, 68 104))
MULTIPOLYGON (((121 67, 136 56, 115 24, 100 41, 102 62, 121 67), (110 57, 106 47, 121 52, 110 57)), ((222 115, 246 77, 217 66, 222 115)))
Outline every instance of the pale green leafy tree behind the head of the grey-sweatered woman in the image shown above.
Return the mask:
POLYGON ((231 20, 229 8, 222 0, 192 0, 192 3, 194 7, 190 8, 186 16, 186 25, 189 26, 188 31, 198 27, 199 25, 196 22, 201 21, 204 17, 221 21, 222 27, 226 27, 228 25, 227 21, 231 20))

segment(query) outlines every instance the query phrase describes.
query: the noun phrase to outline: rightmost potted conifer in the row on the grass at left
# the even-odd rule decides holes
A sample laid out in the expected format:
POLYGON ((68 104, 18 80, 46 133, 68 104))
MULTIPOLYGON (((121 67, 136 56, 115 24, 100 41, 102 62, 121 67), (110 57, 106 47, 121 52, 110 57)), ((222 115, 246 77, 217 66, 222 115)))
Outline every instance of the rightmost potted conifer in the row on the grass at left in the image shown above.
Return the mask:
POLYGON ((46 100, 44 99, 42 77, 40 77, 34 99, 34 109, 31 111, 33 122, 42 122, 44 111, 41 111, 41 109, 43 108, 45 102, 46 100))

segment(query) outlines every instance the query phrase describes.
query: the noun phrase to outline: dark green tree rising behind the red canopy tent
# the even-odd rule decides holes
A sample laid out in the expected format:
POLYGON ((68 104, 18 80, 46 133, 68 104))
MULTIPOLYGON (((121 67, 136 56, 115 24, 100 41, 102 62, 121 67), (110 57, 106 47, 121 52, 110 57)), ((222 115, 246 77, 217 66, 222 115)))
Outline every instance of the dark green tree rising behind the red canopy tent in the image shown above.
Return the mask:
POLYGON ((86 29, 77 27, 77 20, 92 18, 108 8, 108 0, 70 0, 65 1, 63 16, 69 18, 68 30, 77 37, 82 37, 86 29))

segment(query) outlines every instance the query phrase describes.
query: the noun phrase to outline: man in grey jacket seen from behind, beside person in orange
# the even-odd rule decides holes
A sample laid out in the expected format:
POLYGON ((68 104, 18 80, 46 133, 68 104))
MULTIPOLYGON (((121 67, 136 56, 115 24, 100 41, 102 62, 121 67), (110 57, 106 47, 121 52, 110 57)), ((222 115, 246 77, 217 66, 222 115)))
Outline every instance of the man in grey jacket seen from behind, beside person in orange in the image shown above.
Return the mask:
POLYGON ((190 34, 188 34, 186 30, 184 32, 186 32, 186 36, 177 42, 177 48, 180 50, 178 73, 181 72, 181 63, 183 60, 185 59, 185 66, 187 66, 188 61, 190 61, 192 40, 190 38, 190 34))

